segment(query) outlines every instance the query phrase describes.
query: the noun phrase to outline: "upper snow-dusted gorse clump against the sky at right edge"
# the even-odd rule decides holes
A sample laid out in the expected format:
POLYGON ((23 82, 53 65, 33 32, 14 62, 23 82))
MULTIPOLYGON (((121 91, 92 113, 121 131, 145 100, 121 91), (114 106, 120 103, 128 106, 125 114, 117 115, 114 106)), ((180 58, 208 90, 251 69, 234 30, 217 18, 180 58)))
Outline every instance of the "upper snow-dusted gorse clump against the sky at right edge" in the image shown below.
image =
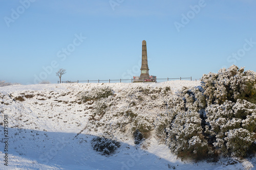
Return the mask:
POLYGON ((203 75, 202 86, 208 105, 223 104, 226 100, 236 102, 244 99, 256 104, 256 72, 244 71, 235 65, 218 73, 203 75))

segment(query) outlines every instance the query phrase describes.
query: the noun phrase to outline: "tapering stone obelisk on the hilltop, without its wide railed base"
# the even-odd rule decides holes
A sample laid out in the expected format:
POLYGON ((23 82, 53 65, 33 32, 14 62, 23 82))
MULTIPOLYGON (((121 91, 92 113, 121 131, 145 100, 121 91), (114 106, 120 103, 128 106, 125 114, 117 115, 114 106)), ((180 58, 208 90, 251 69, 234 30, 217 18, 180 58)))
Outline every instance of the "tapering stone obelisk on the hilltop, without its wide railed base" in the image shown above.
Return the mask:
POLYGON ((142 41, 142 62, 141 62, 141 74, 140 79, 149 79, 150 75, 148 74, 148 65, 147 65, 147 53, 146 53, 146 41, 142 41))

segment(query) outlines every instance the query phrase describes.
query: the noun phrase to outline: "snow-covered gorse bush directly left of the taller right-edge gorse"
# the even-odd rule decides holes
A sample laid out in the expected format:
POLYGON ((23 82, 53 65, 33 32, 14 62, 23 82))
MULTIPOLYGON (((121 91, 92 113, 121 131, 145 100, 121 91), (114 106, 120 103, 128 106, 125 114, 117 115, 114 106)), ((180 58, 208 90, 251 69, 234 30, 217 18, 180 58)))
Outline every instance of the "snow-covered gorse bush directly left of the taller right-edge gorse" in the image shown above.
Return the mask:
POLYGON ((167 101, 168 111, 157 123, 160 137, 166 138, 170 150, 180 156, 203 157, 210 151, 203 135, 202 118, 205 114, 202 88, 183 88, 167 101))

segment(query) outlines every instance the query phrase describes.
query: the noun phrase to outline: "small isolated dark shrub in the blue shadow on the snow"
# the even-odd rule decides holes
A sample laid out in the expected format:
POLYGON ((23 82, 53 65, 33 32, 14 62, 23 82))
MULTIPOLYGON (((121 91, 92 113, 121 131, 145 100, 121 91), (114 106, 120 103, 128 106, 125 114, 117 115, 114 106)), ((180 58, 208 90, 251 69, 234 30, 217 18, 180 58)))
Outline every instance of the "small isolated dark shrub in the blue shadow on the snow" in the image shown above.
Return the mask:
POLYGON ((120 142, 109 134, 97 136, 91 141, 94 150, 102 152, 103 155, 110 155, 120 147, 120 142))

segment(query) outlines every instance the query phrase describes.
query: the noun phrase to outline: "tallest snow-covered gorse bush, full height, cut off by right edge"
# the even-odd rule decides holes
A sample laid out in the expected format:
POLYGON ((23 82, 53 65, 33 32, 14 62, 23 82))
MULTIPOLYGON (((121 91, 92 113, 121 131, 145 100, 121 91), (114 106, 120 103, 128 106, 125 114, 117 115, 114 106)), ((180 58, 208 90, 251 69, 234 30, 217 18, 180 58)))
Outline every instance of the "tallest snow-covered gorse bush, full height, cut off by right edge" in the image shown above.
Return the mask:
POLYGON ((246 156, 256 144, 256 73, 232 65, 202 77, 209 143, 224 155, 246 156))

